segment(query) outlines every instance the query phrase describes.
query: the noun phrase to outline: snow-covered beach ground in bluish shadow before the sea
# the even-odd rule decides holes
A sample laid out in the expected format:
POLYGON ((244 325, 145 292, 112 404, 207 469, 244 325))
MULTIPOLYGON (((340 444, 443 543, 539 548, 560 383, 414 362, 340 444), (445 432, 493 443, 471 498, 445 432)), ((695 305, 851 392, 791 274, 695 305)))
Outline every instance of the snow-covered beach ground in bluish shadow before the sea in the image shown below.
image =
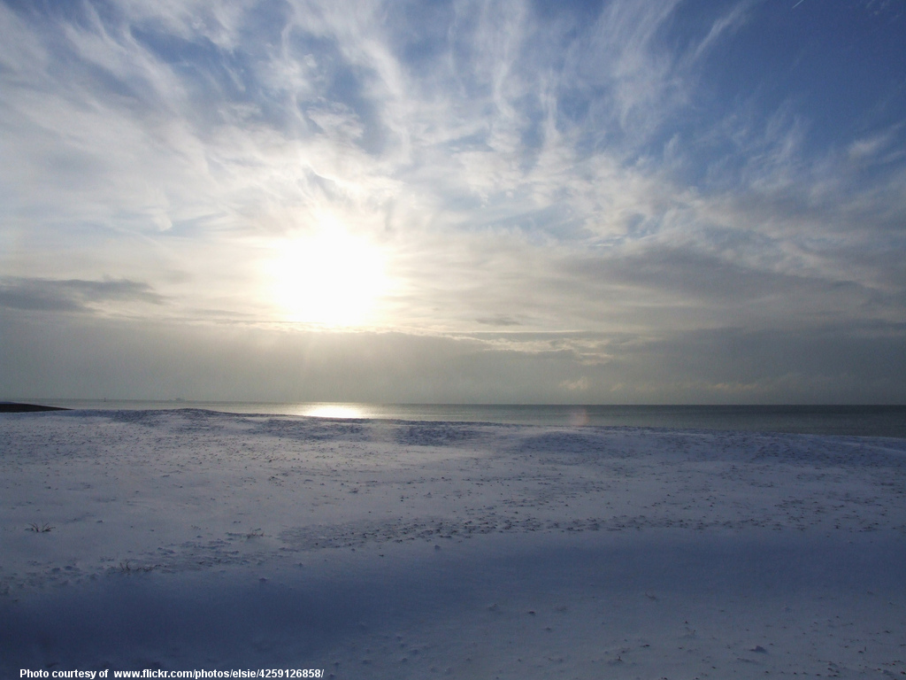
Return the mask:
POLYGON ((21 413, 0 490, 4 677, 906 675, 906 440, 21 413))

